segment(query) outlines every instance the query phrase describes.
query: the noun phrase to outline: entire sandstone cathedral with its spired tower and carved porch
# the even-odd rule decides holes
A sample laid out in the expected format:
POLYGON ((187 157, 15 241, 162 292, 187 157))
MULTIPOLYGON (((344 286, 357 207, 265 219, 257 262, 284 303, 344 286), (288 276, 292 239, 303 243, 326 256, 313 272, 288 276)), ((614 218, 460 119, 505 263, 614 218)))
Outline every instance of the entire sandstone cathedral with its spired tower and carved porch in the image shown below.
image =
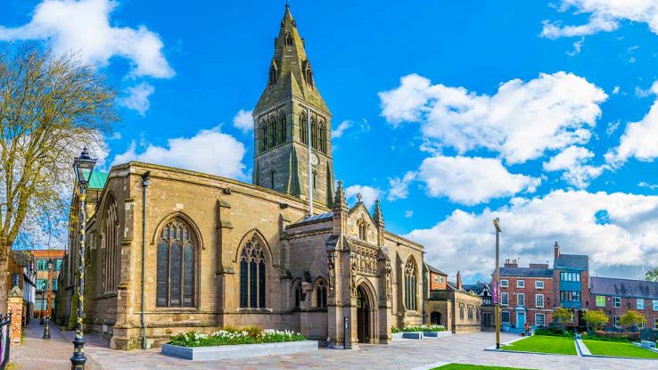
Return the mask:
MULTIPOLYGON (((348 205, 334 180, 332 115, 287 5, 267 71, 251 184, 135 161, 95 174, 84 324, 111 348, 227 325, 341 347, 423 323, 424 247, 386 230, 379 201, 372 213, 360 196, 348 205)), ((62 323, 77 302, 77 194, 71 204, 62 323)))

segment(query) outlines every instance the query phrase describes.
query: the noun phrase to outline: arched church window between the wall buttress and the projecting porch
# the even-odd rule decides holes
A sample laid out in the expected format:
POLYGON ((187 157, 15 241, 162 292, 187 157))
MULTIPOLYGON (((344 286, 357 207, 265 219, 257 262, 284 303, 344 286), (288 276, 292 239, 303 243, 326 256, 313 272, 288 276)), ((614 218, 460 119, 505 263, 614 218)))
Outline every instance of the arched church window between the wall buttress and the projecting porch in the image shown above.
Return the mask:
POLYGON ((266 307, 265 251, 256 235, 244 244, 240 255, 240 307, 266 307))

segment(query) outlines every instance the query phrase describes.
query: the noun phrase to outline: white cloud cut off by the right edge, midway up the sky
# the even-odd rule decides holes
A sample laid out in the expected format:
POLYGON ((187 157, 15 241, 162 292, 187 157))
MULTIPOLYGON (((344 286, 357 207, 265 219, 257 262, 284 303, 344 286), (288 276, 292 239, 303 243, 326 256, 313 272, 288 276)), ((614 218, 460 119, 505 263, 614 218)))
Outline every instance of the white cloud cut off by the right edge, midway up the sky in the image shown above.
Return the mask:
MULTIPOLYGON (((658 82, 651 91, 658 95, 658 82)), ((633 157, 643 161, 653 161, 658 157, 658 98, 645 117, 626 126, 619 146, 605 153, 605 160, 614 166, 633 157)))

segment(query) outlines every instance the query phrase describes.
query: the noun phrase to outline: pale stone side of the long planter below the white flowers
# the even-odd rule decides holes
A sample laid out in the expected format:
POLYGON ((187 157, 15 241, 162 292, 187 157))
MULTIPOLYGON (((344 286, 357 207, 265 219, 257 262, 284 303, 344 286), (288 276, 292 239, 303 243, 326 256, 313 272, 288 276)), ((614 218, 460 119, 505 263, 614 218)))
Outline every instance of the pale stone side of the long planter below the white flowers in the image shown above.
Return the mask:
POLYGON ((176 358, 208 361, 313 352, 317 351, 317 341, 284 341, 280 343, 238 344, 214 347, 182 347, 163 344, 161 351, 163 355, 176 358))

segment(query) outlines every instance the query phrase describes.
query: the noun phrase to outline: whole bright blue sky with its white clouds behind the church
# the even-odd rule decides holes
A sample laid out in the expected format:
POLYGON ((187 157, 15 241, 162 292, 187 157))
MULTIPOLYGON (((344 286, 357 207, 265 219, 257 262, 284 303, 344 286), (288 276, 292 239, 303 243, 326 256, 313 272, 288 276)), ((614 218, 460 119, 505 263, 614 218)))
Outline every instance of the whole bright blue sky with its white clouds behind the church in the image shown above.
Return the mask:
MULTIPOLYGON (((658 2, 632 3, 292 1, 333 113, 336 177, 467 281, 493 269, 494 217, 503 258, 545 261, 558 241, 595 275, 641 277, 658 265, 658 2)), ((73 50, 107 75, 122 119, 97 150, 106 169, 137 159, 250 181, 239 112, 266 86, 283 13, 5 0, 0 41, 73 50)))

